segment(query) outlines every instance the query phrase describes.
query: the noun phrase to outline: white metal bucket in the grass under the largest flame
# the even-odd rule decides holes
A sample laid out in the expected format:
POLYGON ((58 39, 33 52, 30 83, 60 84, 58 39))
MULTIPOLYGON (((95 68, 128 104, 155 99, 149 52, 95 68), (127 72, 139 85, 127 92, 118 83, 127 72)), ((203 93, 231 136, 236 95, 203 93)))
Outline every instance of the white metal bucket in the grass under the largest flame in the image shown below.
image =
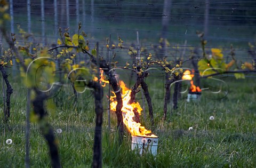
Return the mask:
POLYGON ((138 150, 139 154, 157 154, 158 137, 132 136, 132 150, 138 150))

